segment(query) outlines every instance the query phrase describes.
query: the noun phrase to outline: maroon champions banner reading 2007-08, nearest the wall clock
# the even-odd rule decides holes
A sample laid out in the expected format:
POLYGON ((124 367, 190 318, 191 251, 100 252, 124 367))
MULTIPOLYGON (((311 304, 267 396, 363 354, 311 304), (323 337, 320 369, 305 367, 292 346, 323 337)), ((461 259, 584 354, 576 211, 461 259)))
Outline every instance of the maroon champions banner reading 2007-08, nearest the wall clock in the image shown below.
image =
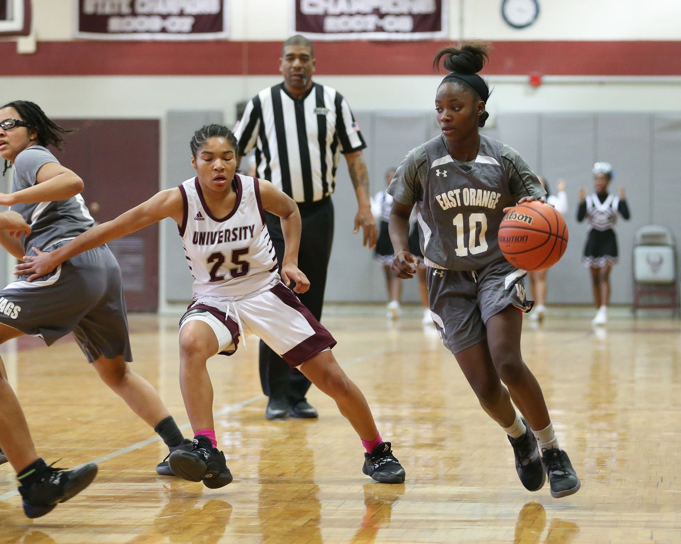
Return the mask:
POLYGON ((293 31, 310 39, 447 37, 447 0, 291 0, 293 31))

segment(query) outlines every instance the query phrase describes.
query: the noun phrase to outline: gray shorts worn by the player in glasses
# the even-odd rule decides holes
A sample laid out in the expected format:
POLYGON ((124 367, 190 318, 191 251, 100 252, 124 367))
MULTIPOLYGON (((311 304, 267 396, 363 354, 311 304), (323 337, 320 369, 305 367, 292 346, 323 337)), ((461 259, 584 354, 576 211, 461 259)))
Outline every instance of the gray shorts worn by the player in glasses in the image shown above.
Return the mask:
POLYGON ((0 323, 42 337, 47 345, 73 333, 89 362, 101 356, 132 360, 121 269, 106 245, 34 282, 26 278, 0 291, 0 323))

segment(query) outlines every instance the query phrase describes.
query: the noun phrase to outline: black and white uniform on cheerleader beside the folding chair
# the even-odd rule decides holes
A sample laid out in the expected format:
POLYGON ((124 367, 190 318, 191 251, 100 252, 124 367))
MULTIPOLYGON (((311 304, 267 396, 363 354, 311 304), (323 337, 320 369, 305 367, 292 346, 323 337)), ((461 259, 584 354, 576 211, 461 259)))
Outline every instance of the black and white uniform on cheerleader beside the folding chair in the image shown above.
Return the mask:
POLYGON ((618 212, 629 219, 627 201, 607 192, 589 194, 580 203, 577 221, 588 222, 588 234, 584 244, 582 264, 587 268, 603 268, 618 261, 617 238, 613 227, 618 212))

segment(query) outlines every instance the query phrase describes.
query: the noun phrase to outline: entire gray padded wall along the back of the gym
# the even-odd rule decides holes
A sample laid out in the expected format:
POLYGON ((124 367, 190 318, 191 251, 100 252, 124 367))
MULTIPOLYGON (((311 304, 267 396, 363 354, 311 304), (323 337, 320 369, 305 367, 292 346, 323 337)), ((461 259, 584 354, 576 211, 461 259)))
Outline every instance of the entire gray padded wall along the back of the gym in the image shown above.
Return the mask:
MULTIPOLYGON (((409 150, 438 133, 432 112, 355 112, 355 117, 368 144, 364 154, 372 195, 383 190, 387 167, 398 165, 409 150)), ((206 122, 222 119, 221 112, 168 113, 163 188, 193 175, 188 146, 193 131, 206 122)), ((549 303, 591 303, 588 271, 581 264, 586 224, 576 221, 577 189, 593 189, 591 169, 596 160, 612 163, 616 177, 610 190, 616 192, 618 186, 624 186, 632 212, 631 221, 618 221, 620 264, 612 272, 612 302, 631 303, 631 251, 636 228, 660 223, 677 235, 681 233, 681 214, 676 208, 681 201, 681 114, 502 113, 484 133, 516 148, 530 167, 549 180, 553 192, 558 178, 567 182, 570 209, 565 219, 570 242, 563 259, 549 272, 549 303)), ((361 235, 352 233, 357 201, 342 157, 333 200, 336 228, 326 300, 385 301, 381 266, 362 248, 361 235)), ((162 228, 163 295, 170 303, 185 303, 191 296, 191 275, 182 245, 170 220, 163 222, 162 228)), ((404 287, 403 300, 417 301, 417 282, 407 281, 404 287)))

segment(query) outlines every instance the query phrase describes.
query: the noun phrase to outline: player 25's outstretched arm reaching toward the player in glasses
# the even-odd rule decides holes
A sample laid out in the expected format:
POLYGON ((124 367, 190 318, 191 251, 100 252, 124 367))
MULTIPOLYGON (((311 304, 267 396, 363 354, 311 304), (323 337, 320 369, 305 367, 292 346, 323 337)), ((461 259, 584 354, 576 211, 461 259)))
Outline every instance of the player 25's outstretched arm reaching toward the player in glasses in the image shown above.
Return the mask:
POLYGON ((183 218, 183 205, 178 188, 158 192, 148 201, 129 209, 114 220, 91 228, 57 250, 42 252, 33 248, 36 256, 24 256, 23 260, 27 262, 16 265, 14 274, 31 274, 27 281, 32 282, 50 273, 74 255, 139 231, 140 228, 159 222, 163 218, 171 217, 180 224, 183 218))

